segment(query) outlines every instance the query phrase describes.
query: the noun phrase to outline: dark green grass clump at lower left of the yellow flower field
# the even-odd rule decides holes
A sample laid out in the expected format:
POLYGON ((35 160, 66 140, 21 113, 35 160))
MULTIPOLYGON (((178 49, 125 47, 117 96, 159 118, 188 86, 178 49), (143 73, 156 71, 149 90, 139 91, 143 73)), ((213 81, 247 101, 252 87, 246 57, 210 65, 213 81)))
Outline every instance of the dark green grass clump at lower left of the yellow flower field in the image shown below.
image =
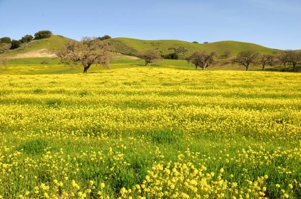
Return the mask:
POLYGON ((46 149, 48 146, 49 144, 46 140, 39 138, 22 143, 18 149, 23 149, 25 153, 34 155, 44 153, 44 149, 46 149))

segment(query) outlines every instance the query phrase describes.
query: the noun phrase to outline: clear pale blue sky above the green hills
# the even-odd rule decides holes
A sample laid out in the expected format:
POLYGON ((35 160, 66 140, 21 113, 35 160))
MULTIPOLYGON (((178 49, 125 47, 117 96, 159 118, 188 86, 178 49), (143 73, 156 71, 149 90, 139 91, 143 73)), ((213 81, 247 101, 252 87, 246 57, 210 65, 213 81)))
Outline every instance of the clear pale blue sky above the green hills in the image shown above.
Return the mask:
POLYGON ((235 40, 301 49, 301 0, 0 0, 0 37, 235 40))

